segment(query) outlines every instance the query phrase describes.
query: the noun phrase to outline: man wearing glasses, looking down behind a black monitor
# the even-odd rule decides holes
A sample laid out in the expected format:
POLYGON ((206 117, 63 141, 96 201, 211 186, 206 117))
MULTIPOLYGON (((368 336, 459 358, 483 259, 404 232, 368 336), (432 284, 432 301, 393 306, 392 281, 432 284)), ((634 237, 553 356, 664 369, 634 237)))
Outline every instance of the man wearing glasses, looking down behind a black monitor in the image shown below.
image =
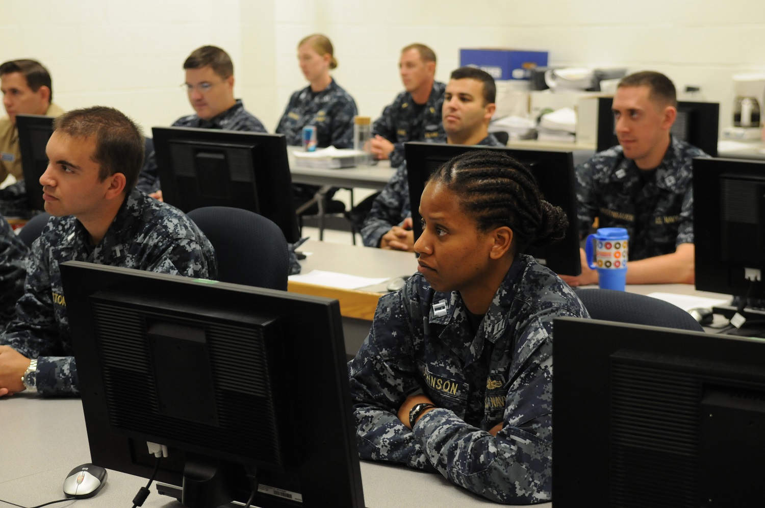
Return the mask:
MULTIPOLYGON (((189 103, 195 113, 177 119, 173 127, 266 132, 260 120, 244 109, 242 100, 234 99, 234 64, 226 51, 215 46, 199 47, 184 61, 184 70, 189 103)), ((161 199, 153 151, 148 154, 137 187, 161 199)))

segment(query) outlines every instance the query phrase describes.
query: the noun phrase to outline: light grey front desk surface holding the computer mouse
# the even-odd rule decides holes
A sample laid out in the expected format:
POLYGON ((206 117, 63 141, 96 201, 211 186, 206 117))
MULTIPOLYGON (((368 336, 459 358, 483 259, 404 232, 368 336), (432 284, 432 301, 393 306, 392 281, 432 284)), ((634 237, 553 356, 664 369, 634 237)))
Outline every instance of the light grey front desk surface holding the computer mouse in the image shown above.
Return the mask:
MULTIPOLYGON (((63 479, 80 464, 90 462, 83 406, 80 399, 41 399, 20 393, 0 399, 0 499, 21 506, 37 506, 63 499, 63 479)), ((495 505, 467 490, 455 487, 439 474, 421 473, 406 467, 361 463, 364 500, 368 508, 418 508, 419 506, 495 505)), ((132 499, 147 480, 109 471, 103 489, 92 500, 54 506, 132 506, 132 499)), ((0 502, 0 508, 10 508, 0 502)), ((181 506, 160 496, 154 485, 147 508, 181 506)), ((545 503, 543 508, 550 508, 545 503)))

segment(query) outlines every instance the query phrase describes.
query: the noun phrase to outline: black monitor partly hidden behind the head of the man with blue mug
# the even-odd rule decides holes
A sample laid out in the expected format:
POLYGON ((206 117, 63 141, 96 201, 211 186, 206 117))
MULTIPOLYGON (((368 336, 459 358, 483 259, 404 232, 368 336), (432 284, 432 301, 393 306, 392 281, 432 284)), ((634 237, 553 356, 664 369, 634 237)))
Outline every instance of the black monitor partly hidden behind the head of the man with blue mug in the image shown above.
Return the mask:
MULTIPOLYGON (((613 97, 597 99, 597 146, 604 151, 618 145, 611 105, 613 97)), ((678 101, 677 118, 672 124, 672 135, 701 148, 707 155, 717 157, 718 129, 720 129, 720 104, 678 101)))

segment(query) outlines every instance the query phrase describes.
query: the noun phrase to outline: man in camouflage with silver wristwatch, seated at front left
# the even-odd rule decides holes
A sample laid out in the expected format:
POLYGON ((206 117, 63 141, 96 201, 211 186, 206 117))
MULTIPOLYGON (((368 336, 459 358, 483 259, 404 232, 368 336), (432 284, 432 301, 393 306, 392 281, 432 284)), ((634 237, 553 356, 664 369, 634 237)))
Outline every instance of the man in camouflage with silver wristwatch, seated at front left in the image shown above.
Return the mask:
POLYGON ((24 295, 0 335, 0 396, 24 389, 79 393, 61 262, 201 278, 217 272, 213 246, 197 226, 135 190, 144 142, 121 112, 96 106, 64 113, 46 151, 50 162, 40 183, 54 217, 31 249, 24 295))

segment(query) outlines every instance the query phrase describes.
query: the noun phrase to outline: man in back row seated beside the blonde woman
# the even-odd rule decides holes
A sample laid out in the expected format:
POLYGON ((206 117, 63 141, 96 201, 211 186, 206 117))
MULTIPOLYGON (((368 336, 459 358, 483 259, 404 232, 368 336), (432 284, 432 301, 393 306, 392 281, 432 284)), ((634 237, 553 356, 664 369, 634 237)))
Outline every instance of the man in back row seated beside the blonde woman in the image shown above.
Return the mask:
POLYGON ((377 159, 390 159, 392 168, 404 161, 408 141, 444 142, 441 123, 446 85, 435 80, 435 53, 425 44, 410 44, 401 50, 399 73, 405 91, 386 106, 372 125, 369 148, 377 159))

